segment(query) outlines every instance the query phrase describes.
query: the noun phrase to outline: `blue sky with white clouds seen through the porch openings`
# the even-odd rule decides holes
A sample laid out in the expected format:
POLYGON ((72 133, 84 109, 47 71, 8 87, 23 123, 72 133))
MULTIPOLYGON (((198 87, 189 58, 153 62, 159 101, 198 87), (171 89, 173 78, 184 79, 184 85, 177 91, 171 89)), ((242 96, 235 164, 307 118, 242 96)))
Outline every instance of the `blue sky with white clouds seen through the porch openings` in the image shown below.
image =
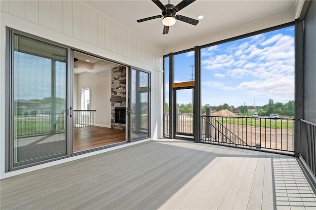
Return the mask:
MULTIPOLYGON (((175 82, 191 80, 190 65, 194 52, 175 56, 175 82)), ((187 90, 178 103, 191 97, 187 90)), ((294 100, 294 26, 202 49, 201 99, 235 107, 294 100)))

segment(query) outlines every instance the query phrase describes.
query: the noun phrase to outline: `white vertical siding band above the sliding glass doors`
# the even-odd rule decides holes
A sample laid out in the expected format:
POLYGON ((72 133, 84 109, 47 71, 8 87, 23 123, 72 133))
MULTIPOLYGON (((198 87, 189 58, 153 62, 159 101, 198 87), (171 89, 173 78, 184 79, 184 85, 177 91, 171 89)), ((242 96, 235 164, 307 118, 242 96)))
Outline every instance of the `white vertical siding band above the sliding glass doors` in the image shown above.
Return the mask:
POLYGON ((3 13, 162 70, 161 46, 134 34, 84 2, 0 0, 0 9, 3 13), (137 43, 134 43, 134 36, 137 43))

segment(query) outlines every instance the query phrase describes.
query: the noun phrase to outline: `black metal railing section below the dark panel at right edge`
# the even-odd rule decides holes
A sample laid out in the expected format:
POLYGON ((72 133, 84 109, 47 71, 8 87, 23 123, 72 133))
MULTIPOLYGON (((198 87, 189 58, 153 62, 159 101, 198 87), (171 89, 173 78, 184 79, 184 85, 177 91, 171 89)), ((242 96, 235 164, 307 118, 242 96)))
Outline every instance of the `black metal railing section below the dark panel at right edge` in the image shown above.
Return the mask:
POLYGON ((316 124, 300 120, 300 156, 316 176, 316 124))

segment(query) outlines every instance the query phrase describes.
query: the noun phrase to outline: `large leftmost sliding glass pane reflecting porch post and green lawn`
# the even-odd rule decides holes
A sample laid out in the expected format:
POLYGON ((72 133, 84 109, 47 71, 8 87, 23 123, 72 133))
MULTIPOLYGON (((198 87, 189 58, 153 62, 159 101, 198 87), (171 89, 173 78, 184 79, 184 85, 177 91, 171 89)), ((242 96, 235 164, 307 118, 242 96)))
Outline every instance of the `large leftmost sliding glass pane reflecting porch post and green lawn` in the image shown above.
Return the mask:
POLYGON ((11 157, 16 167, 66 155, 67 49, 21 35, 13 40, 11 157))

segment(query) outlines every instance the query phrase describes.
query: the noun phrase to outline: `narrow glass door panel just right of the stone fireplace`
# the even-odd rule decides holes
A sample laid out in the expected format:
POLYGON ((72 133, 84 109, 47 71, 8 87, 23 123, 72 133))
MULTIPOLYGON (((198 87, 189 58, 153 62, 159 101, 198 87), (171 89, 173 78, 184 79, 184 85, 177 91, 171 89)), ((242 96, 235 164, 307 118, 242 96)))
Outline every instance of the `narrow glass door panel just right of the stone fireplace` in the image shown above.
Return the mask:
POLYGON ((131 70, 130 128, 131 140, 148 138, 150 122, 149 73, 131 70))

